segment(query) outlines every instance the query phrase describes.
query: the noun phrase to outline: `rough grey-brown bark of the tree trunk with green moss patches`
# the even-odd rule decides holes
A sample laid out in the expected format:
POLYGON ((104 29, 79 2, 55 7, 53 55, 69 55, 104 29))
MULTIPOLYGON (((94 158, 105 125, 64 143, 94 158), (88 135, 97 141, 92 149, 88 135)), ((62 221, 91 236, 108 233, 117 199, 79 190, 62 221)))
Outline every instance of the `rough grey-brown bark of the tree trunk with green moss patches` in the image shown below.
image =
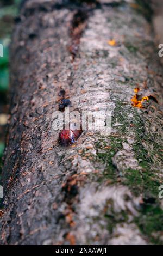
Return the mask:
POLYGON ((131 1, 74 2, 29 0, 15 27, 1 243, 162 243, 162 70, 151 25, 131 1), (137 87, 153 95, 142 109, 130 101, 137 87), (61 147, 52 129, 60 88, 80 111, 110 108, 111 135, 83 132, 61 147))

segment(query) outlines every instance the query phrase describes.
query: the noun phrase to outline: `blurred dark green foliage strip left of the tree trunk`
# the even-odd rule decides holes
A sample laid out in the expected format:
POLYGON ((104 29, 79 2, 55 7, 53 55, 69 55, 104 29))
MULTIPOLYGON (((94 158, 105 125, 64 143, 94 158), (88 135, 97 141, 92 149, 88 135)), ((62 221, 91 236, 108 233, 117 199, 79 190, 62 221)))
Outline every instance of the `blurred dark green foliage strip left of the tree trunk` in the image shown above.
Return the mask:
POLYGON ((0 0, 0 44, 3 45, 3 57, 0 57, 0 170, 8 119, 9 45, 20 2, 21 0, 0 0))

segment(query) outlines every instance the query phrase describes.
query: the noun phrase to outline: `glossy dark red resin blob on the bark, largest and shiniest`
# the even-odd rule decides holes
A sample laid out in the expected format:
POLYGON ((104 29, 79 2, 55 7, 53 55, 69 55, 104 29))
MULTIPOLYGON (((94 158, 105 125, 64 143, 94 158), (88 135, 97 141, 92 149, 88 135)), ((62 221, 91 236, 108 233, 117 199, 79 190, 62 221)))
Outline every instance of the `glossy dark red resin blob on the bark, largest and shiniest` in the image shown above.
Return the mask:
POLYGON ((82 134, 82 127, 80 126, 80 130, 77 130, 74 129, 74 126, 74 123, 70 123, 68 130, 62 130, 59 133, 59 143, 62 146, 72 145, 82 134))

